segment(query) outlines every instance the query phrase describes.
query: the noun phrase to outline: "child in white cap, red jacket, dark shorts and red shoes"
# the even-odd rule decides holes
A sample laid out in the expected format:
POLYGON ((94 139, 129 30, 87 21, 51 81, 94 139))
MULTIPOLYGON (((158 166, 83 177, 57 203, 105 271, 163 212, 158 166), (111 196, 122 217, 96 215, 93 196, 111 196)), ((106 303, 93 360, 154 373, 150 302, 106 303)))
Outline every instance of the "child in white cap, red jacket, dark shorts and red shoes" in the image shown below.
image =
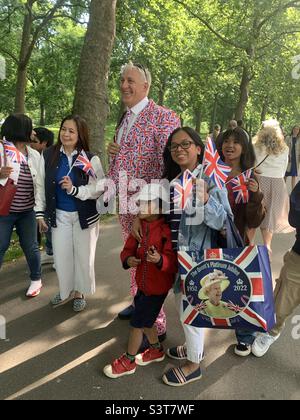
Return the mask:
POLYGON ((142 220, 143 239, 139 243, 130 235, 121 253, 125 269, 137 268, 138 292, 130 321, 132 330, 127 353, 105 366, 104 374, 109 378, 131 375, 135 373, 136 365, 146 366, 165 358, 154 323, 173 286, 178 263, 172 248, 170 228, 162 216, 162 202, 169 201, 164 193, 166 195, 159 184, 148 184, 142 189, 139 218, 142 220), (137 355, 143 333, 150 347, 137 355))

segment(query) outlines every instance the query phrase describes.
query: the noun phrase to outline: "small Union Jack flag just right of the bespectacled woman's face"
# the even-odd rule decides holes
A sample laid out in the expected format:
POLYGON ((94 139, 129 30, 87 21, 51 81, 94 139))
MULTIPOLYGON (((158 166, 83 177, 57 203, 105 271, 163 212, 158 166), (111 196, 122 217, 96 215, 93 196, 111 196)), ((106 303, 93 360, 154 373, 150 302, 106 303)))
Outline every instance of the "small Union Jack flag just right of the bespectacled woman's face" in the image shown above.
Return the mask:
POLYGON ((231 168, 221 160, 212 139, 209 139, 207 142, 203 166, 205 175, 212 179, 218 188, 222 189, 226 184, 231 168))

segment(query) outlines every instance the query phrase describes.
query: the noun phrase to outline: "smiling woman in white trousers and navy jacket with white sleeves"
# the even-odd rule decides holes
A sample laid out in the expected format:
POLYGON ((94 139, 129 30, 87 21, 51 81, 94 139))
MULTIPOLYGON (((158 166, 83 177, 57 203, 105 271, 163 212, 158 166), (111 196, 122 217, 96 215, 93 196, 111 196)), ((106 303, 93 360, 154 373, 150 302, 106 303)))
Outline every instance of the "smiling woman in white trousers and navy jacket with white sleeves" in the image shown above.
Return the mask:
MULTIPOLYGON (((73 298, 73 310, 86 307, 86 295, 95 293, 95 252, 99 235, 96 199, 74 197, 80 186, 94 190, 104 176, 100 159, 89 152, 86 122, 80 116, 66 117, 58 142, 42 157, 38 175, 36 214, 41 231, 52 228, 53 253, 59 293, 53 306, 73 298)), ((95 197, 97 198, 97 197, 95 197)))

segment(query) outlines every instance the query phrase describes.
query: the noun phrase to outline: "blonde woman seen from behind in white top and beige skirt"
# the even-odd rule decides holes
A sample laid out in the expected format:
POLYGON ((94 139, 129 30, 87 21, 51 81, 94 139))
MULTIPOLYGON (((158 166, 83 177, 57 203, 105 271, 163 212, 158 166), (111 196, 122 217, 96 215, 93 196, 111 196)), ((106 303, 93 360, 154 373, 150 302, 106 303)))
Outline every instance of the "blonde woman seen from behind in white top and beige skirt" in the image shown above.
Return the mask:
POLYGON ((285 144, 279 123, 269 120, 253 139, 257 163, 268 158, 259 167, 260 188, 264 194, 267 214, 260 228, 264 244, 272 254, 274 233, 290 233, 289 196, 284 177, 289 161, 289 148, 285 144))

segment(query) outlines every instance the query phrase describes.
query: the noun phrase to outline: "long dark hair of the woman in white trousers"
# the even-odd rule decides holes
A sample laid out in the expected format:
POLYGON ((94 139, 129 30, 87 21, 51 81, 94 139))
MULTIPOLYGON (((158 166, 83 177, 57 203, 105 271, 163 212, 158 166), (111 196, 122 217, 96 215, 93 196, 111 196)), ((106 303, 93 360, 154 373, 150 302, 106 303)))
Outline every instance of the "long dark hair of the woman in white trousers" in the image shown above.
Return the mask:
POLYGON ((68 115, 62 120, 61 125, 60 125, 60 129, 58 132, 58 140, 57 140, 56 145, 54 146, 54 154, 53 154, 53 159, 51 161, 52 166, 56 165, 59 160, 60 149, 62 146, 60 133, 66 121, 74 121, 76 124, 77 131, 78 131, 78 142, 77 142, 76 147, 77 147, 78 153, 80 153, 81 150, 84 150, 85 152, 90 151, 89 129, 88 129, 85 119, 83 119, 79 115, 68 115))

